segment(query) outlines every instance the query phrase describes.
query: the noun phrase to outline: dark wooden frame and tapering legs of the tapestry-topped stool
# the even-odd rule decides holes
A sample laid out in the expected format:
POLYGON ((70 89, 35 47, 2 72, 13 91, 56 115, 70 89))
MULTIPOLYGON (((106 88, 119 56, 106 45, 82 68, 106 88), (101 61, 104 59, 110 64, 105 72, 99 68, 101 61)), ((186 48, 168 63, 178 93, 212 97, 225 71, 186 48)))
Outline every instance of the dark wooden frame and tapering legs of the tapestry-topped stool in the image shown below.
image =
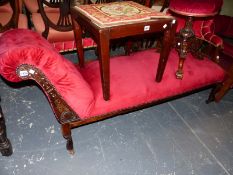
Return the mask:
MULTIPOLYGON (((124 3, 124 2, 121 2, 124 3)), ((109 4, 109 3, 108 3, 109 4)), ((88 6, 88 5, 85 5, 88 6)), ((144 7, 144 6, 143 6, 144 7)), ((147 8, 147 7, 144 7, 147 8)), ((148 9, 149 10, 149 9, 148 9)), ((109 65, 109 45, 113 39, 146 35, 155 32, 163 32, 163 47, 160 55, 159 68, 157 70, 156 81, 160 82, 168 59, 170 46, 176 29, 174 18, 161 16, 158 18, 145 19, 142 21, 131 21, 130 23, 100 26, 96 24, 90 16, 82 13, 75 3, 71 6, 73 27, 76 38, 76 46, 80 67, 84 67, 84 55, 82 47, 82 31, 88 31, 98 45, 100 62, 100 72, 102 81, 103 98, 110 99, 110 65, 109 65)))

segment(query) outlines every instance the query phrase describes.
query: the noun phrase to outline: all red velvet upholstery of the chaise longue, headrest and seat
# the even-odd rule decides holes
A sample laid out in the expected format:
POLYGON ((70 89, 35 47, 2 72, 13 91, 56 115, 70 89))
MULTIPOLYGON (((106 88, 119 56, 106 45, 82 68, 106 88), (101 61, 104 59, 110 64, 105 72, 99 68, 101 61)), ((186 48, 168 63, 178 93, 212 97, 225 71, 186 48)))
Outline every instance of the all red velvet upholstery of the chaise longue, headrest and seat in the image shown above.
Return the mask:
POLYGON ((172 97, 224 78, 224 71, 210 60, 188 57, 184 68, 187 76, 177 80, 178 55, 173 50, 160 83, 155 82, 159 54, 154 50, 111 58, 111 96, 109 101, 104 101, 98 61, 90 62, 79 70, 45 39, 29 30, 8 31, 0 38, 0 74, 17 82, 20 79, 15 72, 20 64, 36 66, 81 119, 172 97))

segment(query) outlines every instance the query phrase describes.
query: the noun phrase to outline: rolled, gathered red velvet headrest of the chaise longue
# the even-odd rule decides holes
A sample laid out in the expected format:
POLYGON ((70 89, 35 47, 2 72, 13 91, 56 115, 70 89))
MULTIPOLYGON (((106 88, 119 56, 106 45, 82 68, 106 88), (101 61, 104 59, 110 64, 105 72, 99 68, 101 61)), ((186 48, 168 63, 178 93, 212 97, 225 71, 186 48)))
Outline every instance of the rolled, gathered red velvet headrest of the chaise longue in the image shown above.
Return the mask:
POLYGON ((93 92, 76 67, 36 32, 24 29, 5 32, 0 37, 0 74, 12 82, 22 81, 16 75, 21 64, 42 70, 78 115, 89 116, 94 105, 93 92))

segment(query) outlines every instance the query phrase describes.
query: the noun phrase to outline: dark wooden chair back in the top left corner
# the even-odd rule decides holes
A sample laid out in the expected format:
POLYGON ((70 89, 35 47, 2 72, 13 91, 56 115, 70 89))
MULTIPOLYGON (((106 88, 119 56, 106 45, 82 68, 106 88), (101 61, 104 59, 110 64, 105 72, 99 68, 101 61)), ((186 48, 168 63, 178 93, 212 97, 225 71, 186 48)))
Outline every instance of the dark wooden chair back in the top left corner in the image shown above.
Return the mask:
POLYGON ((9 4, 12 12, 0 11, 0 33, 9 30, 10 28, 17 28, 19 19, 19 0, 0 0, 0 6, 9 4), (10 20, 5 23, 5 15, 11 15, 10 20))

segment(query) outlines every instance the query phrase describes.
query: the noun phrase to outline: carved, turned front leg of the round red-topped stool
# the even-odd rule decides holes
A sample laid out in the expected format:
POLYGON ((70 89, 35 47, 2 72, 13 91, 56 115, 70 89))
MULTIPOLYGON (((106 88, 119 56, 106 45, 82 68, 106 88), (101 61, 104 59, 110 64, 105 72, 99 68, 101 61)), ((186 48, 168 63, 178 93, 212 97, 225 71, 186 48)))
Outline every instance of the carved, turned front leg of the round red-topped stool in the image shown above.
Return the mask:
POLYGON ((183 78, 183 65, 187 53, 189 51, 189 39, 194 36, 192 27, 193 27, 193 17, 189 16, 186 19, 184 28, 180 30, 181 42, 178 43, 178 47, 179 47, 178 51, 179 51, 180 59, 178 64, 178 70, 176 71, 177 79, 183 78))

